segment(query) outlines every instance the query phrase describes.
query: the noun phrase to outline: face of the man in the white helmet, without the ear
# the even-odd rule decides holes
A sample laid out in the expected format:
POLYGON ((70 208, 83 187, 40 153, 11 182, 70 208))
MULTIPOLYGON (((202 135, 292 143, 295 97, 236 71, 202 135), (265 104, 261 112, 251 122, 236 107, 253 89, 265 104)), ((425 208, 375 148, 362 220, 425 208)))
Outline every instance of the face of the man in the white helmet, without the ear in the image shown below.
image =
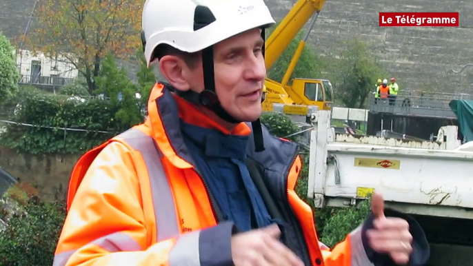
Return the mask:
MULTIPOLYGON (((215 90, 222 107, 240 121, 261 115, 261 94, 266 76, 263 39, 258 29, 243 32, 214 45, 215 90)), ((188 75, 190 88, 201 92, 202 63, 188 75)))

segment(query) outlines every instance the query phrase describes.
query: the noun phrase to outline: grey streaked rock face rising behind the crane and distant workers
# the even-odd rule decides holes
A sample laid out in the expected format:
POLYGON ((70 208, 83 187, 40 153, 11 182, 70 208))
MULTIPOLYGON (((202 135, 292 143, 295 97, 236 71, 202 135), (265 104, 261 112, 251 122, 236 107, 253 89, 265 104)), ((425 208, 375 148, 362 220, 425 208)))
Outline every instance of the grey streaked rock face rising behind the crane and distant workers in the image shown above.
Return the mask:
MULTIPOLYGON (((266 0, 276 19, 284 17, 295 1, 266 0)), ((33 6, 34 0, 1 0, 0 30, 10 38, 23 34, 33 6)), ((431 86, 443 92, 472 92, 473 68, 462 74, 451 70, 473 63, 473 1, 327 0, 310 43, 323 56, 334 43, 352 37, 368 43, 401 90, 431 86), (460 27, 381 28, 379 12, 459 12, 460 27)))

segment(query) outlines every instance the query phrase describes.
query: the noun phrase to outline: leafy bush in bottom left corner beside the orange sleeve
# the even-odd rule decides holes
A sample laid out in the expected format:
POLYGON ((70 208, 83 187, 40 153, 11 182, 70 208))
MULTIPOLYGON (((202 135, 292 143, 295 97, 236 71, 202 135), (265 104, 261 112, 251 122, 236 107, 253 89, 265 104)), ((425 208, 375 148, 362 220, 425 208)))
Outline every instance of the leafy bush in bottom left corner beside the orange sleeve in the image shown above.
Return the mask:
POLYGON ((0 265, 52 265, 65 206, 42 202, 24 190, 9 191, 2 202, 0 218, 8 218, 8 226, 0 234, 0 265))

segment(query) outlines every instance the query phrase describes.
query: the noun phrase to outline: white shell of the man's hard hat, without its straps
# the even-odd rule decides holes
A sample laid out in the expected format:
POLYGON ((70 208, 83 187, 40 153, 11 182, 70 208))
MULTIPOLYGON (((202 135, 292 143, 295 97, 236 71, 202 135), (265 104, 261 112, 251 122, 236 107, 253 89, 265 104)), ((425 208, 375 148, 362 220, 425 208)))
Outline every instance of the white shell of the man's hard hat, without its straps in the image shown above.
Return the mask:
POLYGON ((274 25, 263 0, 146 0, 142 17, 145 59, 158 45, 198 52, 252 28, 274 25))

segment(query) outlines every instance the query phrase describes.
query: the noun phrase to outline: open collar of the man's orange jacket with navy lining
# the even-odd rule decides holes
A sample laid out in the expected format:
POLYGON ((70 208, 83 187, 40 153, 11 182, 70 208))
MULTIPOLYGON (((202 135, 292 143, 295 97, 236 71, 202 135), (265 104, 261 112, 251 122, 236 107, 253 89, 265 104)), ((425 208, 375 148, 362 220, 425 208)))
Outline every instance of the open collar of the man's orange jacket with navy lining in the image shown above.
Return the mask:
MULTIPOLYGON (((145 124, 151 127, 152 136, 159 150, 172 165, 181 169, 192 168, 195 164, 188 148, 185 147, 179 118, 185 122, 202 119, 202 121, 208 122, 208 127, 212 127, 212 125, 218 127, 216 123, 212 124, 212 121, 197 108, 177 96, 174 97, 165 85, 155 84, 148 101, 148 118, 145 124)), ((251 123, 240 123, 233 132, 226 132, 226 134, 249 134, 247 155, 258 161, 265 169, 287 172, 294 163, 298 145, 272 136, 264 125, 262 127, 265 142, 264 152, 254 152, 251 123)))

